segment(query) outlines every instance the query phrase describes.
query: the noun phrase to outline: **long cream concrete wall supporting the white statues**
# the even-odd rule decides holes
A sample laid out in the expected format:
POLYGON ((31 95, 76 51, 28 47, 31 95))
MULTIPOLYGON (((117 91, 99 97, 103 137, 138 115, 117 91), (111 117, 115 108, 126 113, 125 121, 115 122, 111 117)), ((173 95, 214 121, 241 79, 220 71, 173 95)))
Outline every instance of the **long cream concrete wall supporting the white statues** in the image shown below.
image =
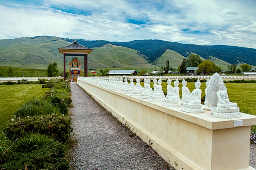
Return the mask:
POLYGON ((78 79, 89 93, 177 170, 235 170, 249 167, 250 126, 256 116, 220 119, 210 111, 192 114, 78 79), (243 120, 243 127, 233 127, 243 120), (150 142, 149 142, 150 141, 150 142))

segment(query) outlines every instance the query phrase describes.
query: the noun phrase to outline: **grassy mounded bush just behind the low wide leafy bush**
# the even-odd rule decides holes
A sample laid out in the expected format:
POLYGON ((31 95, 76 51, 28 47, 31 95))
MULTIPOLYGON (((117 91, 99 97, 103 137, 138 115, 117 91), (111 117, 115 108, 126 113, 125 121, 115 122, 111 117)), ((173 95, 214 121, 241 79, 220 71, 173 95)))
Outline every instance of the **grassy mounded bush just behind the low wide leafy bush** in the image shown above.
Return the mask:
POLYGON ((29 100, 14 112, 16 117, 22 118, 48 114, 61 115, 61 111, 44 98, 29 100))

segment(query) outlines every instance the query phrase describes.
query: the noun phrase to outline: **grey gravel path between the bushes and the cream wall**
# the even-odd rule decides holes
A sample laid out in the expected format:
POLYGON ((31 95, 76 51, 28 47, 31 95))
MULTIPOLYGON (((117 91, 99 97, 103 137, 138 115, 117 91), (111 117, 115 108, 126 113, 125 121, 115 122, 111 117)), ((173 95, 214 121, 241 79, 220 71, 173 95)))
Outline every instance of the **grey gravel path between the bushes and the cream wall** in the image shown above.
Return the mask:
MULTIPOLYGON (((73 148, 72 169, 174 170, 76 83, 70 86, 72 127, 78 140, 73 148)), ((256 168, 256 144, 251 144, 250 151, 250 166, 256 168)))

